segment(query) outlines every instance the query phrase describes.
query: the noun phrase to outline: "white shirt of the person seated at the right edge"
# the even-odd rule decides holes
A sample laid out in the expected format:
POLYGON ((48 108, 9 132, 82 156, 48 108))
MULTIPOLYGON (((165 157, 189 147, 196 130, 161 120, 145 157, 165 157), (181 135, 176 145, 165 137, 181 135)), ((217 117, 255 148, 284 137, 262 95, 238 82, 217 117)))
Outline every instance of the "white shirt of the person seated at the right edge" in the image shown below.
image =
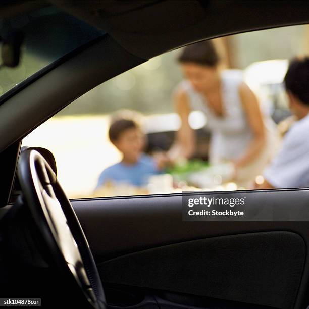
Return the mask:
POLYGON ((264 178, 275 188, 309 187, 309 114, 286 133, 264 178))

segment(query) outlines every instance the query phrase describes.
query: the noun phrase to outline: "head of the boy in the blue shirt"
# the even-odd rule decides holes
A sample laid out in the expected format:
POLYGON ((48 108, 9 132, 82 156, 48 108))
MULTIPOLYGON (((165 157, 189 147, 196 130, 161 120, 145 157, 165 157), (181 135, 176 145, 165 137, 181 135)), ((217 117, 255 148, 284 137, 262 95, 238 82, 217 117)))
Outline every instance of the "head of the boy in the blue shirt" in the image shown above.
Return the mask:
POLYGON ((137 162, 145 146, 145 136, 133 120, 113 121, 109 129, 109 138, 127 162, 137 162))

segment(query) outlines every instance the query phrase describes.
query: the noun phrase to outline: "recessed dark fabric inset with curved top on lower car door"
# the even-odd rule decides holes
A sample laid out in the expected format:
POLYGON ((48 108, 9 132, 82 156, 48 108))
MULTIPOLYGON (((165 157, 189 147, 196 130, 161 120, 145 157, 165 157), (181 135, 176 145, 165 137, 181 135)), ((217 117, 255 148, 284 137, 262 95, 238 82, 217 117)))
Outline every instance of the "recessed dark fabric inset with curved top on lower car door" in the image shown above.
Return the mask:
POLYGON ((102 280, 291 308, 305 262, 291 232, 211 237, 127 254, 98 264, 102 280))

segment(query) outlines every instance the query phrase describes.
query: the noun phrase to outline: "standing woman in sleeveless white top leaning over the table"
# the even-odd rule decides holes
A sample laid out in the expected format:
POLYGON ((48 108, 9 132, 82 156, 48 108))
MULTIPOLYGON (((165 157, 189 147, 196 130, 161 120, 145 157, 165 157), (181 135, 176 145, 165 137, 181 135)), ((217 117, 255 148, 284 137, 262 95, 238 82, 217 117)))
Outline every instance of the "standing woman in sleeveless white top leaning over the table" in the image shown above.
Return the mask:
POLYGON ((236 178, 252 180, 270 159, 272 141, 266 123, 271 120, 262 115, 241 71, 220 71, 219 57, 211 41, 185 47, 178 61, 186 79, 174 95, 181 128, 169 157, 174 160, 193 155, 196 137, 188 116, 191 111, 200 110, 211 131, 210 162, 232 162, 236 178))

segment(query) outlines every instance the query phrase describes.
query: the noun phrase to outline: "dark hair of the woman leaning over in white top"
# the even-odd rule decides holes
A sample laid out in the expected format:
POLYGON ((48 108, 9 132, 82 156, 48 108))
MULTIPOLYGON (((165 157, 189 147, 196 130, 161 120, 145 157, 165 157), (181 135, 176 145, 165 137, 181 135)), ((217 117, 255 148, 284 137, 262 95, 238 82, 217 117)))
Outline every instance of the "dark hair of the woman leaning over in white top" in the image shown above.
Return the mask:
POLYGON ((184 47, 178 57, 180 63, 193 62, 202 66, 215 67, 219 56, 212 41, 202 41, 184 47))

